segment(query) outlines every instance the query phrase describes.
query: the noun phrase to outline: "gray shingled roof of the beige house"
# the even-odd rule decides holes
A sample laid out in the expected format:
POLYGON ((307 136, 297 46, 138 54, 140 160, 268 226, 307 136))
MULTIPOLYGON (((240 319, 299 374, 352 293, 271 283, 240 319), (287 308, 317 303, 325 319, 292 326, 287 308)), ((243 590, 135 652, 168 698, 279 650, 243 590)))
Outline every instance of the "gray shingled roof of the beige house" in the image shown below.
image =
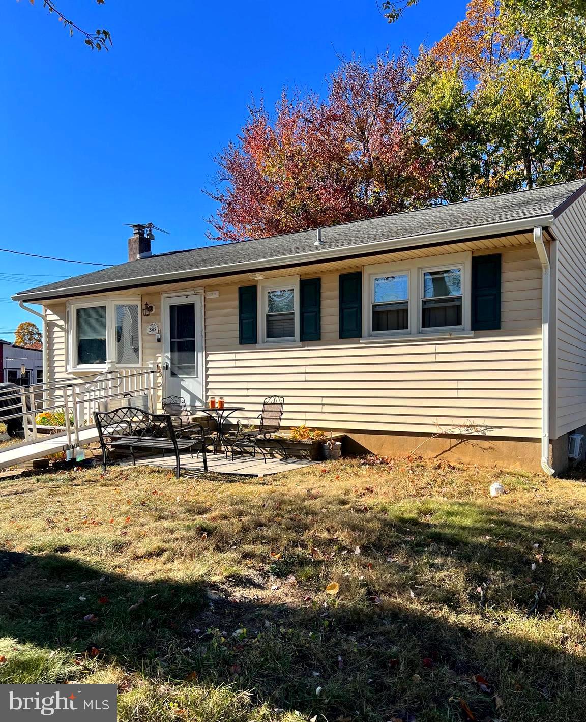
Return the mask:
MULTIPOLYGON (((572 196, 579 196, 586 190, 586 181, 570 181, 556 183, 543 188, 532 188, 526 191, 506 193, 501 196, 462 201, 460 203, 433 206, 416 211, 396 213, 393 215, 371 218, 362 221, 342 223, 322 230, 323 245, 316 248, 315 230, 306 230, 287 235, 276 235, 271 238, 246 240, 241 243, 222 243, 193 248, 191 251, 174 251, 157 253, 150 258, 129 261, 118 266, 110 266, 102 271, 38 286, 13 296, 17 299, 42 300, 65 295, 77 295, 95 290, 112 287, 132 287, 154 282, 154 277, 172 280, 173 274, 193 279, 222 275, 219 267, 235 264, 255 265, 261 270, 267 266, 279 266, 279 258, 302 256, 312 253, 319 256, 323 253, 331 256, 332 251, 340 251, 359 245, 368 251, 368 245, 380 241, 409 239, 417 236, 440 233, 449 230, 465 230, 466 228, 491 225, 499 222, 510 222, 530 219, 548 214, 556 215, 565 207, 572 196)), ((301 261, 302 258, 299 258, 301 261)), ((316 259, 316 262, 319 258, 316 259)), ((245 269, 242 269, 243 271, 245 269)), ((226 272, 226 271, 224 271, 226 272)))

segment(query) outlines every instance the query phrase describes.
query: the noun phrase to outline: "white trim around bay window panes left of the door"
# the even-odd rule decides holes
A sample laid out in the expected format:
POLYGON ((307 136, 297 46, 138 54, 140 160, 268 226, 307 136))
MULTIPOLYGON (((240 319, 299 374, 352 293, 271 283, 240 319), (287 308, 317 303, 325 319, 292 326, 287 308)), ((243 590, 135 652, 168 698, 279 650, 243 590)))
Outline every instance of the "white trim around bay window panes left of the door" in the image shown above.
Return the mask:
POLYGON ((139 368, 142 366, 142 313, 141 297, 108 296, 96 297, 82 302, 70 301, 67 304, 67 370, 72 371, 106 371, 110 368, 139 368), (139 307, 139 362, 118 364, 116 355, 116 315, 115 307, 120 305, 137 305, 139 307), (106 307, 106 362, 95 364, 77 363, 77 309, 106 307))

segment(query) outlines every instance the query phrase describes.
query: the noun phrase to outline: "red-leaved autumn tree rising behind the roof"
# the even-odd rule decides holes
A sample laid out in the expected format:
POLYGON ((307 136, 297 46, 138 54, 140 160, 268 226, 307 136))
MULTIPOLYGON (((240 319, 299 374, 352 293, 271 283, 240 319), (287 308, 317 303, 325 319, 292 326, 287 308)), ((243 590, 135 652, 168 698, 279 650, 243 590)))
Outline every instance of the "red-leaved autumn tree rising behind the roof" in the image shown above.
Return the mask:
POLYGON ((429 203, 432 168, 408 125, 422 67, 406 52, 370 65, 354 58, 323 102, 284 93, 272 116, 262 104, 249 108, 237 142, 216 158, 210 238, 261 238, 429 203))

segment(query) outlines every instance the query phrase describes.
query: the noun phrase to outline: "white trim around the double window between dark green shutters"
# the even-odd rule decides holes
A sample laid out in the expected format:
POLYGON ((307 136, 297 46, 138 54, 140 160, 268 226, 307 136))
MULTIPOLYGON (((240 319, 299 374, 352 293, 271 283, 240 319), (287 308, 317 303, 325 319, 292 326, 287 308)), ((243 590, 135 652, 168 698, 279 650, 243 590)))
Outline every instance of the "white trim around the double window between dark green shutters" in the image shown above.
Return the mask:
POLYGON ((436 337, 463 336, 472 329, 472 253, 447 253, 444 256, 427 256, 411 261, 394 261, 388 264, 364 266, 362 271, 362 342, 388 340, 423 340, 436 337), (462 325, 421 327, 421 300, 423 298, 423 274, 446 268, 462 269, 462 325), (375 277, 407 273, 409 276, 409 323, 408 330, 372 331, 372 298, 375 277))

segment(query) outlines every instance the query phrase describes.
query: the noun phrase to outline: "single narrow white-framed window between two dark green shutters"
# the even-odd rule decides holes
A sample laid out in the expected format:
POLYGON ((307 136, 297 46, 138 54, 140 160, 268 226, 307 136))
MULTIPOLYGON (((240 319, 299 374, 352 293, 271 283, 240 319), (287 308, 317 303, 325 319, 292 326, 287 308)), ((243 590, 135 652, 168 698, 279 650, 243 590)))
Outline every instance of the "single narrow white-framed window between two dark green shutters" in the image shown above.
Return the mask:
POLYGON ((258 319, 263 343, 299 340, 299 277, 263 279, 258 284, 258 319))

